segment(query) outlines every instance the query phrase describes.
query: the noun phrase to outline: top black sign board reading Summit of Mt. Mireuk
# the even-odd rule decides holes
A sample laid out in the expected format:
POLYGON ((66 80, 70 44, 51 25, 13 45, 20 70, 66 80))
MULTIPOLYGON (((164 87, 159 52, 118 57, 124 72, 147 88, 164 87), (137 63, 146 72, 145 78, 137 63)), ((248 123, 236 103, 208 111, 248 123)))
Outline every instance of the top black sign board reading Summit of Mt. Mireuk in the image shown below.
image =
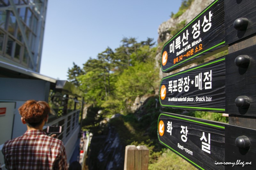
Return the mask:
POLYGON ((216 0, 165 43, 162 71, 170 72, 195 62, 199 57, 208 57, 226 49, 222 48, 225 47, 224 14, 224 0, 216 0))

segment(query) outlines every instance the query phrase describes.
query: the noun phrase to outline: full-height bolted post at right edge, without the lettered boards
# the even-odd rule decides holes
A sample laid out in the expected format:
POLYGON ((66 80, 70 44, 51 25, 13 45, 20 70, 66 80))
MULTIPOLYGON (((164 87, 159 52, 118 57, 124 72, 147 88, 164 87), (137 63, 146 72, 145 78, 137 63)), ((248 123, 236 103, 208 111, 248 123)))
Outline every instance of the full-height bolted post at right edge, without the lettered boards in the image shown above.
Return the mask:
MULTIPOLYGON (((255 169, 256 150, 256 1, 225 0, 226 107, 225 162, 235 167, 255 169), (239 162, 246 163, 239 166, 239 162)), ((240 164, 241 165, 241 164, 240 164)))

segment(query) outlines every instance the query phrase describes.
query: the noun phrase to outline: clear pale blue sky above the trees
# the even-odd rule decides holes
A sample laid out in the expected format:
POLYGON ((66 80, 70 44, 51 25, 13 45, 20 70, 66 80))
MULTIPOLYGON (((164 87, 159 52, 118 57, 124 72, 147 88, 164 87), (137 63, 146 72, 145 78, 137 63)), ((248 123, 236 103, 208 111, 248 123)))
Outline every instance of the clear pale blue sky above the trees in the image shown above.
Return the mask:
POLYGON ((157 42, 157 29, 181 0, 49 0, 40 74, 67 80, 73 62, 83 67, 124 37, 157 42))

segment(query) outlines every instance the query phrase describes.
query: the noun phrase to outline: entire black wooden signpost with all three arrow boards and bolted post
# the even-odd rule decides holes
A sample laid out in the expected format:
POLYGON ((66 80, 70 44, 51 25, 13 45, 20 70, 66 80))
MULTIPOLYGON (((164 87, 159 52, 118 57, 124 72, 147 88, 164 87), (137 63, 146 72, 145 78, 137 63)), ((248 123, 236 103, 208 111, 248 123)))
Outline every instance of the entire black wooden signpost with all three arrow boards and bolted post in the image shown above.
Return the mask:
POLYGON ((197 169, 255 169, 255 12, 256 0, 215 0, 163 47, 161 68, 170 72, 228 45, 228 55, 174 73, 160 84, 163 107, 229 114, 229 124, 159 115, 160 143, 197 169))

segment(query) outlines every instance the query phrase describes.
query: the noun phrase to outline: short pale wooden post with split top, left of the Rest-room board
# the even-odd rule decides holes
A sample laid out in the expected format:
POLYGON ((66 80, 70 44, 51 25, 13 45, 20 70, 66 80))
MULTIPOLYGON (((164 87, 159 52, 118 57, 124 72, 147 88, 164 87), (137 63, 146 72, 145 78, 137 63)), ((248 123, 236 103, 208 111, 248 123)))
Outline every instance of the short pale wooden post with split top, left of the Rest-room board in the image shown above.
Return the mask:
POLYGON ((124 170, 148 170, 149 150, 146 146, 125 147, 124 170))

